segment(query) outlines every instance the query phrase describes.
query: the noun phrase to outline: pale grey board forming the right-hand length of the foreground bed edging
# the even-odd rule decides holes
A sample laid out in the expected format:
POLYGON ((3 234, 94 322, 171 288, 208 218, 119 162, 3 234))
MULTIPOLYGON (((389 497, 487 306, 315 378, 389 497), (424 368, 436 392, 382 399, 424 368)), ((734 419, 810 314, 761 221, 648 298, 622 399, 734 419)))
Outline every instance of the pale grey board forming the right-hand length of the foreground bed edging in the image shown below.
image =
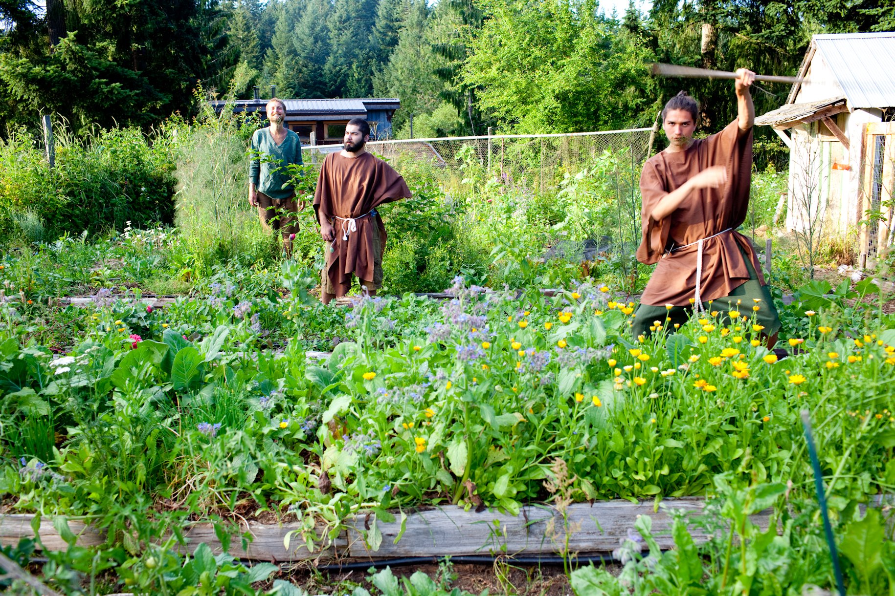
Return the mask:
MULTIPOLYGON (((671 548, 669 529, 671 509, 699 514, 703 499, 665 499, 658 511, 652 501, 631 503, 625 500, 599 503, 577 503, 567 509, 569 550, 574 552, 609 552, 634 529, 637 516, 651 516, 652 530, 662 548, 671 548)), ((433 555, 534 555, 555 553, 565 546, 563 517, 550 507, 525 507, 519 516, 496 511, 464 511, 460 508, 439 508, 407 516, 405 533, 401 521, 377 522, 382 542, 379 550, 368 548, 364 533, 371 527, 373 516, 359 517, 348 528, 348 554, 362 557, 420 557, 433 555)), ((766 528, 768 514, 753 516, 753 522, 766 528)), ((695 541, 707 541, 703 530, 691 527, 695 541)))

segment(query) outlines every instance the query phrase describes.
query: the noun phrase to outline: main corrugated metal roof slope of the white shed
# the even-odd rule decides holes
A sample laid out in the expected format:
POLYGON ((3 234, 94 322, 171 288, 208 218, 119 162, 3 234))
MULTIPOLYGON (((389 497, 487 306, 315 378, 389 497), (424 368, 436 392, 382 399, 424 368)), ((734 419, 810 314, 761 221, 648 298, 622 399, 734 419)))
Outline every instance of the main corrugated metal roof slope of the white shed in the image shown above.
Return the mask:
POLYGON ((853 109, 895 106, 895 32, 815 35, 853 109))

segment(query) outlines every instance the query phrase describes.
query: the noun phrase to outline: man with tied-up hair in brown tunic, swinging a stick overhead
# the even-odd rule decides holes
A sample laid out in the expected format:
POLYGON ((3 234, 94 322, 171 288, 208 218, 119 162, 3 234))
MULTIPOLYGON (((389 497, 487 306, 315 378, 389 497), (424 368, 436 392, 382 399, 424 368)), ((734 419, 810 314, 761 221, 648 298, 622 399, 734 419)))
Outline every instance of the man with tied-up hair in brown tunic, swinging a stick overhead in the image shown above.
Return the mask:
POLYGON ((640 177, 637 260, 657 265, 635 314, 635 336, 686 322, 694 308, 756 316, 771 336, 780 328, 752 243, 736 231, 749 206, 754 122, 754 72, 737 75, 737 120, 706 139, 693 139, 698 110, 685 92, 662 111, 669 147, 647 160, 640 177))

